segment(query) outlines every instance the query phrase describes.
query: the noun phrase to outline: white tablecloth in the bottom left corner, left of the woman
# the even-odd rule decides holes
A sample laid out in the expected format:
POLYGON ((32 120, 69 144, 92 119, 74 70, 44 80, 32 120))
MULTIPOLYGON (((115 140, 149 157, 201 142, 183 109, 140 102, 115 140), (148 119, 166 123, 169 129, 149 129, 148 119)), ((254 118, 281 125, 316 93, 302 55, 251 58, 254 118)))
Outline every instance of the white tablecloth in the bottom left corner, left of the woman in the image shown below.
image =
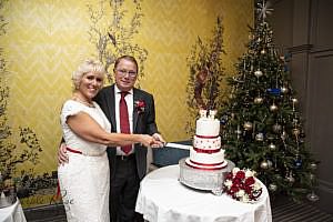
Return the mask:
POLYGON ((0 222, 27 222, 19 199, 14 204, 0 209, 0 222))

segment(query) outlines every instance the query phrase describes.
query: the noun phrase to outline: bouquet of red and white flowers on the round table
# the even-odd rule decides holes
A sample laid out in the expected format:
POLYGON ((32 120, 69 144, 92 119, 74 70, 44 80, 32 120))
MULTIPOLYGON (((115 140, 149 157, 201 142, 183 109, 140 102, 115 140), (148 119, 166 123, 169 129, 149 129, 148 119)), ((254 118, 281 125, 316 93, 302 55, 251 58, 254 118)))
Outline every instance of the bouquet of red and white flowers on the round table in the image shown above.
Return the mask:
POLYGON ((255 171, 250 169, 240 170, 234 168, 225 176, 224 192, 232 199, 244 203, 256 201, 262 193, 262 188, 254 175, 255 171))

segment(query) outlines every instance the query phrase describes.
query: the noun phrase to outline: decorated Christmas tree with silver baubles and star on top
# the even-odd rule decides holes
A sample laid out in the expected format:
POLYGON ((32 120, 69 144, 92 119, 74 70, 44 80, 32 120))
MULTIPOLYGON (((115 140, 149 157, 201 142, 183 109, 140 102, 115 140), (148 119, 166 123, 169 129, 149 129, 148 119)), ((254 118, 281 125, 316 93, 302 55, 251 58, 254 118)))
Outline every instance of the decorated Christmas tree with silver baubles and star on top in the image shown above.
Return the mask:
MULTIPOLYGON (((299 200, 314 185, 316 162, 305 144, 286 59, 278 54, 265 21, 271 9, 262 2, 256 12, 248 50, 228 81, 230 100, 221 105, 222 140, 226 158, 239 168, 255 170, 271 194, 299 200)), ((315 199, 314 193, 309 196, 315 199)))

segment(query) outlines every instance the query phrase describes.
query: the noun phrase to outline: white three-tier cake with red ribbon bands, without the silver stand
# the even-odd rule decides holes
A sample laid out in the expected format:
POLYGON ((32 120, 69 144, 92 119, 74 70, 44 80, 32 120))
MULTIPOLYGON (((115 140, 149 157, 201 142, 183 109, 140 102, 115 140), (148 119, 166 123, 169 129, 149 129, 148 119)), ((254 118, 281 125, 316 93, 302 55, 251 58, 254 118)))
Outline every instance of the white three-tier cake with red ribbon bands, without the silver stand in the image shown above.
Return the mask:
POLYGON ((221 170, 228 165, 224 150, 221 149, 220 121, 215 119, 216 111, 200 110, 196 120, 193 147, 185 163, 200 170, 221 170))

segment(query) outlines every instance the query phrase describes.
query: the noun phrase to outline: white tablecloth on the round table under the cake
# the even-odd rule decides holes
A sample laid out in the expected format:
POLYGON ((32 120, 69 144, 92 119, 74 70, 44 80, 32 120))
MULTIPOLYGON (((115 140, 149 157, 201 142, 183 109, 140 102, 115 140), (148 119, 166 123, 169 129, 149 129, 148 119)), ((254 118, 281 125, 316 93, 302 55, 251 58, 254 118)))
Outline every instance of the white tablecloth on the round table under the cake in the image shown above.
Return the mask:
POLYGON ((271 222, 266 188, 256 203, 241 203, 181 184, 179 165, 149 173, 140 185, 135 211, 150 222, 271 222))

